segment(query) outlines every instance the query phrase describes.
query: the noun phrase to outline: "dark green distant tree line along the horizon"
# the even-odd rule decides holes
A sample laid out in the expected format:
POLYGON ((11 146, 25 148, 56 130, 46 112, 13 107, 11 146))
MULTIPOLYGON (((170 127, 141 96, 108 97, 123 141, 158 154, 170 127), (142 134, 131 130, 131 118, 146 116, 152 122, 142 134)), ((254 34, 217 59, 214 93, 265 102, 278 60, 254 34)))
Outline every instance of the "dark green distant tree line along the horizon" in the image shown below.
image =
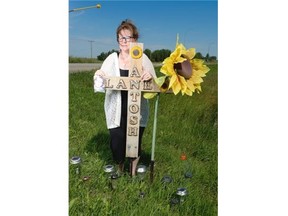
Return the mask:
MULTIPOLYGON (((71 57, 69 56, 69 63, 96 63, 99 61, 104 61, 111 53, 117 52, 116 50, 110 50, 108 52, 102 52, 100 55, 97 56, 97 59, 95 58, 79 58, 79 57, 71 57)), ((148 56, 148 58, 152 62, 163 62, 165 58, 169 57, 171 54, 171 51, 168 49, 161 49, 161 50, 155 50, 151 51, 150 49, 145 49, 144 53, 148 56)), ((195 58, 198 59, 204 59, 209 62, 215 62, 217 61, 216 56, 209 56, 207 55, 204 57, 200 52, 197 52, 195 55, 195 58)))

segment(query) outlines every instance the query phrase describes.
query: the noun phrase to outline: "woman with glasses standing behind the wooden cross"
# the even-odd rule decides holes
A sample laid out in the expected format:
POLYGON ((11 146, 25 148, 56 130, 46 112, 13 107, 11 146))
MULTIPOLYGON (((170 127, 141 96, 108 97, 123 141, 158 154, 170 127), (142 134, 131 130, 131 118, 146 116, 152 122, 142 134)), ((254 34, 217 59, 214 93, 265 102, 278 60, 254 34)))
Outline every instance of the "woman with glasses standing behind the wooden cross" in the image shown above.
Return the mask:
MULTIPOLYGON (((110 54, 103 62, 100 70, 94 75, 105 78, 105 76, 128 76, 130 68, 129 47, 131 42, 137 42, 139 33, 137 27, 130 21, 122 21, 116 30, 119 52, 110 54)), ((156 77, 152 62, 143 53, 143 74, 142 80, 150 80, 156 77)), ((110 133, 110 148, 113 160, 118 165, 118 171, 124 172, 125 151, 126 151, 126 128, 127 128, 127 91, 106 90, 105 93, 105 116, 106 124, 110 133)), ((141 99, 141 120, 139 130, 138 158, 131 158, 131 175, 136 173, 136 167, 140 159, 141 143, 144 129, 148 122, 149 106, 147 99, 141 99)))

